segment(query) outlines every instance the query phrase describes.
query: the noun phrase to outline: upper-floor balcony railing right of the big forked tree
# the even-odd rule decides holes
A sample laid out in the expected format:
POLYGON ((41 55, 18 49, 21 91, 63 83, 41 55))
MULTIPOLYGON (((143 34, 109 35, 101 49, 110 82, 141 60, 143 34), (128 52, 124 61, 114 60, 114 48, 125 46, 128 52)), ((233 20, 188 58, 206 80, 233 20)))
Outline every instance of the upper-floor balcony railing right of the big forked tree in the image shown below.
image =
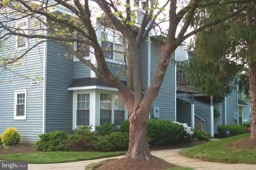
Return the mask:
POLYGON ((192 87, 191 74, 188 72, 186 66, 182 64, 177 64, 177 85, 192 87))

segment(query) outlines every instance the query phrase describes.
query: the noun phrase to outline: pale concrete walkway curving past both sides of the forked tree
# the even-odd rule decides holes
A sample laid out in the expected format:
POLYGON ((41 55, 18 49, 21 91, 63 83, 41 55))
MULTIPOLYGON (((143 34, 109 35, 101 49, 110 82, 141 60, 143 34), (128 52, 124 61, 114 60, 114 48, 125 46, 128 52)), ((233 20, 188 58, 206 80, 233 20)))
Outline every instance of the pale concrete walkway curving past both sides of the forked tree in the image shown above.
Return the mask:
MULTIPOLYGON (((152 151, 152 154, 175 165, 191 167, 195 170, 256 170, 256 165, 214 163, 183 157, 179 154, 180 150, 182 149, 157 150, 152 151)), ((113 158, 122 157, 117 156, 113 158)), ((84 170, 86 165, 105 159, 109 158, 56 164, 29 164, 28 170, 84 170)))

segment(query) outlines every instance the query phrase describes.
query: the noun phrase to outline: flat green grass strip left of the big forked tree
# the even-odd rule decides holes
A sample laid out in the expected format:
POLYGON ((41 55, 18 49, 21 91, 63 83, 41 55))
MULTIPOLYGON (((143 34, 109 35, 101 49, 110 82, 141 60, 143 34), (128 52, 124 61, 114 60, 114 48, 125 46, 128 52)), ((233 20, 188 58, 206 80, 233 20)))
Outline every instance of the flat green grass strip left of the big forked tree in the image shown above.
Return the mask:
POLYGON ((126 151, 119 152, 31 152, 0 155, 0 160, 27 161, 33 164, 76 162, 92 159, 107 158, 124 155, 126 151))

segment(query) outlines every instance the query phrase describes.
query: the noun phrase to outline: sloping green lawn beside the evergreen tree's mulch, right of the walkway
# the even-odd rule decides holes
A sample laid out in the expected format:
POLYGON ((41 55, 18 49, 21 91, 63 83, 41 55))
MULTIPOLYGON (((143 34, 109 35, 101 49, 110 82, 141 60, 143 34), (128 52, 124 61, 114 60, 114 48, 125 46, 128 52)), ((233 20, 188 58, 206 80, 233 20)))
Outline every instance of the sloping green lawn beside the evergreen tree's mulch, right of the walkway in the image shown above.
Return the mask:
POLYGON ((250 134, 237 135, 217 141, 204 143, 181 151, 183 156, 221 163, 256 164, 256 151, 227 148, 226 145, 248 137, 250 134))

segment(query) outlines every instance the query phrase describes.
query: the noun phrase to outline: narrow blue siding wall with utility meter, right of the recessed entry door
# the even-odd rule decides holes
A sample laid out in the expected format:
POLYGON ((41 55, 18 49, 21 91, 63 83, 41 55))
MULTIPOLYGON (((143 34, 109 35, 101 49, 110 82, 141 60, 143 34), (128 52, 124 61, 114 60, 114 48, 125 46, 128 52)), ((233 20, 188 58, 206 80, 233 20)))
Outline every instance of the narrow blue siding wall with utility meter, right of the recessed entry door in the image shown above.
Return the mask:
POLYGON ((237 124, 234 120, 234 113, 237 113, 237 91, 236 88, 226 97, 227 125, 237 124))

